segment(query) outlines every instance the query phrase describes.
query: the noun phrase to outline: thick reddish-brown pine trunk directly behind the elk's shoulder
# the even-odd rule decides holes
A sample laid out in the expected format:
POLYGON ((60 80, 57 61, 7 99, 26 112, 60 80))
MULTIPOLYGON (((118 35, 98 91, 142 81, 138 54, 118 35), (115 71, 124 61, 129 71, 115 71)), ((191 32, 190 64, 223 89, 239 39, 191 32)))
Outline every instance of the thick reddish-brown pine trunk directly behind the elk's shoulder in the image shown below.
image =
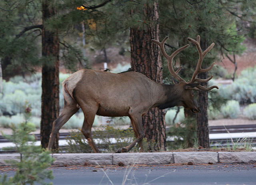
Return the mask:
MULTIPOLYGON (((145 17, 152 21, 146 29, 130 29, 131 45, 131 70, 140 72, 148 78, 162 83, 162 65, 160 49, 158 45, 152 43, 151 39, 159 40, 158 28, 158 4, 154 2, 153 7, 144 6, 145 17)), ((148 89, 151 91, 151 89, 148 89)), ((164 122, 164 112, 158 108, 152 108, 142 117, 145 138, 149 145, 149 150, 166 150, 166 125, 164 122), (153 148, 152 148, 153 147, 153 148)))

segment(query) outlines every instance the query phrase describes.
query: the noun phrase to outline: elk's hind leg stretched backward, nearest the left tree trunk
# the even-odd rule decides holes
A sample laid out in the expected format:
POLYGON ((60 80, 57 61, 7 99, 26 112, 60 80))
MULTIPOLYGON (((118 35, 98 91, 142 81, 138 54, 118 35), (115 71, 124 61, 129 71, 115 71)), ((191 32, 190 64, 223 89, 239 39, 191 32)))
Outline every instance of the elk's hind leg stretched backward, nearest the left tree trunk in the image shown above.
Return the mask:
POLYGON ((78 109, 79 107, 77 106, 76 102, 73 102, 72 104, 66 104, 65 102, 64 108, 60 116, 52 124, 52 133, 50 135, 48 150, 52 149, 54 140, 60 128, 69 120, 69 118, 71 118, 71 116, 73 116, 78 111, 78 109))

